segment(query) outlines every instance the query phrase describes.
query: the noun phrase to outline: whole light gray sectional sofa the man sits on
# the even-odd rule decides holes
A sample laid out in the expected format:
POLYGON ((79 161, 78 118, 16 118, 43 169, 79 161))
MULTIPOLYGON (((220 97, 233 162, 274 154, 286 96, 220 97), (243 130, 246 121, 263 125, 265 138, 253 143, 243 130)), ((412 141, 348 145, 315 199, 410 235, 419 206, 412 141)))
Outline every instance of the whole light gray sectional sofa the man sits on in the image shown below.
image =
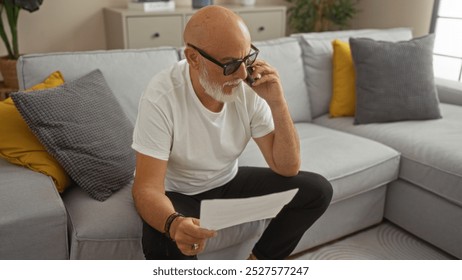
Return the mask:
MULTIPOLYGON (((330 118, 333 39, 411 39, 407 28, 296 34, 256 42, 280 73, 300 135, 302 169, 327 177, 334 197, 294 254, 384 218, 462 258, 462 86, 437 79, 442 118, 354 125, 330 118)), ((21 88, 60 70, 73 80, 100 69, 131 122, 150 78, 180 59, 176 48, 26 55, 21 88)), ((240 165, 265 166, 251 142, 240 165)), ((0 259, 142 259, 130 184, 104 202, 78 186, 60 195, 47 176, 0 159, 0 259)), ((201 259, 248 256, 268 221, 222 230, 201 259)))

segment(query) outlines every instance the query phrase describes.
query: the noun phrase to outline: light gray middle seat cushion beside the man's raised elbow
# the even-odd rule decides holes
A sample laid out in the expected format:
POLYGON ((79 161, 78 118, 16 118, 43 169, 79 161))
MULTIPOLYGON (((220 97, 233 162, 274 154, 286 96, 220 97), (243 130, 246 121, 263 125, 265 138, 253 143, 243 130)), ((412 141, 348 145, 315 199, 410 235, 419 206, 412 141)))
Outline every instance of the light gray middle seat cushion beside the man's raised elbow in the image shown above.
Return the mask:
MULTIPOLYGON (((334 188, 332 202, 385 185, 398 176, 399 153, 369 139, 311 123, 296 124, 301 143, 301 170, 326 177, 334 188)), ((240 166, 267 166, 252 141, 240 166)))

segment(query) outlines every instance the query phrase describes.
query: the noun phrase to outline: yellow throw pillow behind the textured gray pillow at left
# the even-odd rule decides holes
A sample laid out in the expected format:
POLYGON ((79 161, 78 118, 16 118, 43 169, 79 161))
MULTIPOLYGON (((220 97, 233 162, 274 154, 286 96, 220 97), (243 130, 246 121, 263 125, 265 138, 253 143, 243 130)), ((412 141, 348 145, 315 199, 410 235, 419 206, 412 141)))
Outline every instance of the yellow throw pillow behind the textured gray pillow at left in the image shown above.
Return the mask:
MULTIPOLYGON (((56 71, 43 83, 27 91, 52 88, 63 83, 61 73, 56 71)), ((11 98, 0 102, 0 120, 0 157, 50 176, 58 191, 63 192, 70 184, 69 176, 30 131, 11 98)))

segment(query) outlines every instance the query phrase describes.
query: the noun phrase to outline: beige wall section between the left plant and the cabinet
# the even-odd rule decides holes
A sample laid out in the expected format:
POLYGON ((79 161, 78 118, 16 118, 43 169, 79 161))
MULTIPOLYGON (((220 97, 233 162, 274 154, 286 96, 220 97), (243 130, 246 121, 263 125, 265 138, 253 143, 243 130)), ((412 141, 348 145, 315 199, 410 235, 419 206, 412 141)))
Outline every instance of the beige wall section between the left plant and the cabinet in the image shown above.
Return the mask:
MULTIPOLYGON (((38 11, 21 11, 19 47, 22 53, 105 49, 103 7, 126 0, 44 0, 38 11)), ((0 53, 6 53, 3 44, 0 53)))

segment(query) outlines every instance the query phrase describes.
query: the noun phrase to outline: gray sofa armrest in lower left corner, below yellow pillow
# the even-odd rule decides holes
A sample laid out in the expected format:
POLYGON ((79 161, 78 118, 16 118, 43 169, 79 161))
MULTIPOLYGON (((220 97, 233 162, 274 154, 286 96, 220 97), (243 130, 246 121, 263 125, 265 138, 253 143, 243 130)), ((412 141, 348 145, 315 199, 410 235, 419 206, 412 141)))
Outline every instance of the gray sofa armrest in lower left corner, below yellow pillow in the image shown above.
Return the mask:
POLYGON ((0 158, 0 259, 68 259, 67 214, 53 180, 0 158))

